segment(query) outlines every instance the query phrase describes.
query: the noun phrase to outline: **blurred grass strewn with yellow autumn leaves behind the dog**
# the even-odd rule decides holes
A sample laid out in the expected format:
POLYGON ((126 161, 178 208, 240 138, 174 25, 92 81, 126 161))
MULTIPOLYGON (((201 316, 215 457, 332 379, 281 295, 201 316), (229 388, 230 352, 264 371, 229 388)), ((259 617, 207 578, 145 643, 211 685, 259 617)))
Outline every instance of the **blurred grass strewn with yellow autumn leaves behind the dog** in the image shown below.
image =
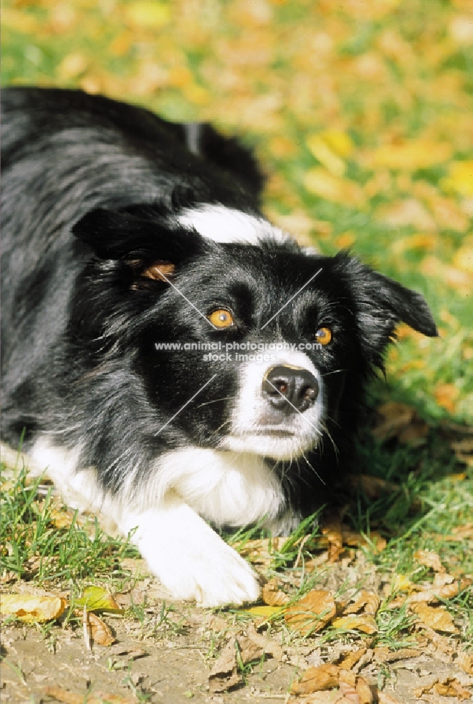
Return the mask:
POLYGON ((271 220, 431 304, 441 339, 401 325, 389 396, 472 419, 472 0, 8 0, 2 16, 4 84, 243 135, 271 220))

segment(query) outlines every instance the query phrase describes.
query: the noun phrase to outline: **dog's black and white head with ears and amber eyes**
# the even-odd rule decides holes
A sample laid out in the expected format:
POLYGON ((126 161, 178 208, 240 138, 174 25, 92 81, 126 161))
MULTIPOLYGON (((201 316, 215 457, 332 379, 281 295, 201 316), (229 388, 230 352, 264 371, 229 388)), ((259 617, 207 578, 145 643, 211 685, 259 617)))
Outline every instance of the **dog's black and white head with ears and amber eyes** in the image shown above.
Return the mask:
POLYGON ((88 337, 122 346, 156 408, 153 434, 179 444, 301 457, 381 365, 398 321, 436 334, 422 296, 346 253, 210 239, 139 207, 89 213, 75 234, 99 256, 87 277, 106 310, 88 337))

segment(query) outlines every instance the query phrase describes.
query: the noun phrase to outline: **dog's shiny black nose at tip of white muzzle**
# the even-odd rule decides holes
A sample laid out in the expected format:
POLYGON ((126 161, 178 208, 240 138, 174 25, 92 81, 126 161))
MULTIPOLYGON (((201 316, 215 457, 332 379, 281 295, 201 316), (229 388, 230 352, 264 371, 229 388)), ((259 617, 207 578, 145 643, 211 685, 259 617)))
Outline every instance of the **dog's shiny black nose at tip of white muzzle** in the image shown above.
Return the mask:
POLYGON ((319 395, 319 382, 303 367, 279 365, 267 371, 263 379, 263 396, 273 408, 285 415, 307 410, 319 395))

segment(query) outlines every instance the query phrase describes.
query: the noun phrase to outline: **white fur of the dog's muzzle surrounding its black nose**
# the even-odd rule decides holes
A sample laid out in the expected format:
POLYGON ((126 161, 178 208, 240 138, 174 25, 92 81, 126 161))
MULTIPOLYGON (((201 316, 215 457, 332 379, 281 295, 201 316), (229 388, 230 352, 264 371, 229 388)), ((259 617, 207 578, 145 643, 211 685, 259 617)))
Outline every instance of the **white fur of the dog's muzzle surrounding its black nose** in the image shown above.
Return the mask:
POLYGON ((223 448, 234 452, 256 453, 275 460, 294 460, 317 445, 324 415, 324 390, 320 372, 308 356, 298 350, 275 351, 270 362, 248 362, 241 370, 241 385, 232 414, 232 425, 223 448), (302 367, 312 372, 319 383, 317 401, 305 410, 288 416, 278 427, 294 432, 292 437, 275 437, 261 434, 260 418, 267 411, 267 401, 261 392, 263 379, 276 365, 302 367))

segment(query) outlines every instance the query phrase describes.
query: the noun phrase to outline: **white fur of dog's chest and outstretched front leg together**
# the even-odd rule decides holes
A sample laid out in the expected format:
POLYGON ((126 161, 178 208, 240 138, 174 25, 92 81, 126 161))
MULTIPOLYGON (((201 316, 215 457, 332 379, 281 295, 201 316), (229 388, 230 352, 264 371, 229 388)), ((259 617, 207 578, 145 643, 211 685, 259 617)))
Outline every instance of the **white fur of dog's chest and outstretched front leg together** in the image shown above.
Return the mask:
POLYGON ((132 487, 130 478, 112 495, 101 489, 93 468, 78 467, 78 452, 39 439, 31 454, 69 505, 98 514, 108 532, 132 532, 132 542, 174 598, 202 606, 258 598, 251 567, 201 516, 236 525, 265 515, 275 520, 284 496, 261 458, 196 447, 170 452, 150 467, 141 486, 132 487))

